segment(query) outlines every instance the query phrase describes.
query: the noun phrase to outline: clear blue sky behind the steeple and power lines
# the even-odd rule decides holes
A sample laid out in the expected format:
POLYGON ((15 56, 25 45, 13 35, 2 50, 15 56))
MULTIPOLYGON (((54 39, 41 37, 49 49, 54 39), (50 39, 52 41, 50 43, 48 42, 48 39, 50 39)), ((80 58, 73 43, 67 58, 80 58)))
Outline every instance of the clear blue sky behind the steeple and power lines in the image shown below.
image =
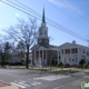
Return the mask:
MULTIPOLYGON (((81 38, 89 39, 89 0, 2 0, 12 1, 17 4, 19 2, 26 4, 30 9, 40 13, 42 16, 42 10, 44 7, 46 18, 55 21, 56 23, 62 26, 66 31, 70 30, 76 32, 81 38), (19 1, 19 2, 17 2, 19 1)), ((20 8, 23 10, 22 8, 20 8)), ((27 10, 24 10, 28 12, 27 10)), ((29 14, 34 16, 32 12, 29 14)), ((0 1, 0 34, 3 34, 2 29, 8 29, 10 26, 18 23, 18 18, 28 20, 28 16, 3 2, 0 1)), ((61 31, 50 24, 46 19, 48 27, 48 34, 51 38, 50 43, 55 46, 60 46, 65 42, 72 42, 76 40, 78 44, 88 46, 87 41, 78 39, 67 32, 61 31)), ((37 19, 38 28, 41 26, 41 20, 37 19)), ((55 23, 53 23, 55 24, 55 23)), ((56 26, 56 24, 55 24, 56 26)), ((38 30, 38 29, 37 29, 38 30)), ((73 33, 75 34, 75 33, 73 33)))

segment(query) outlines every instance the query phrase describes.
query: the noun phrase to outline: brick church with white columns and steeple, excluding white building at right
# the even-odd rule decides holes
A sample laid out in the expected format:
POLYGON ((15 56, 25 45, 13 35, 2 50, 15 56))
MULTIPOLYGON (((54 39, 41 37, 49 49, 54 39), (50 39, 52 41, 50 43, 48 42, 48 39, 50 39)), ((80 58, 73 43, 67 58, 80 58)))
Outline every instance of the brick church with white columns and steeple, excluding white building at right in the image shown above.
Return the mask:
POLYGON ((59 62, 59 50, 57 46, 50 44, 48 36, 48 27, 46 26, 44 9, 42 13, 42 22, 39 28, 37 44, 32 47, 32 63, 36 66, 50 66, 52 57, 59 62))

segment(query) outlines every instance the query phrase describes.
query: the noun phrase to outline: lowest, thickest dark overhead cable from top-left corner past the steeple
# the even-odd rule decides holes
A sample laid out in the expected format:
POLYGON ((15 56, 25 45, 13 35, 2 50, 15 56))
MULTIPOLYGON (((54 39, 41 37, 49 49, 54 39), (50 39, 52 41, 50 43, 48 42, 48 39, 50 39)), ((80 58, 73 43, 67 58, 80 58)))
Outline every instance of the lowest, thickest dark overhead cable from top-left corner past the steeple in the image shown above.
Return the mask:
MULTIPOLYGON (((29 16, 32 16, 32 14, 30 14, 30 13, 28 13, 28 12, 26 12, 26 11, 23 11, 23 10, 21 10, 21 9, 17 8, 17 7, 12 6, 12 4, 10 4, 10 3, 8 3, 8 2, 4 2, 4 1, 1 1, 1 2, 6 3, 6 4, 8 4, 8 6, 10 6, 10 7, 14 8, 14 9, 17 9, 17 10, 20 10, 20 11, 22 11, 23 13, 27 13, 27 14, 29 14, 29 16)), ((37 18, 36 16, 32 16, 32 17, 37 18)), ((37 18, 37 19, 39 19, 39 18, 37 18)), ((41 20, 41 19, 39 19, 39 20, 41 20)), ((73 37, 76 37, 76 38, 78 38, 78 39, 81 39, 81 40, 83 40, 83 41, 87 41, 85 38, 81 38, 81 37, 76 36, 75 33, 68 32, 67 29, 59 28, 59 27, 57 27, 57 26, 55 26, 55 24, 52 24, 52 23, 49 23, 49 22, 48 22, 48 24, 50 24, 50 26, 52 26, 52 27, 55 27, 55 28, 57 28, 57 29, 60 29, 61 31, 63 31, 63 32, 66 32, 66 33, 69 33, 69 34, 71 34, 71 36, 73 36, 73 37)))

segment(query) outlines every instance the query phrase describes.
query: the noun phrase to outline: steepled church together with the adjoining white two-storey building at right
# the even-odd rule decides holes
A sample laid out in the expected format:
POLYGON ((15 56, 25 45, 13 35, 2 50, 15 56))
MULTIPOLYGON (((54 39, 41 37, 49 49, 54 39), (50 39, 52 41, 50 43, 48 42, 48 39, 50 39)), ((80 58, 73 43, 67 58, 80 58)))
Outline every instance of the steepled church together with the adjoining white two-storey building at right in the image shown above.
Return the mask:
POLYGON ((42 22, 39 27, 38 42, 32 47, 32 63, 36 66, 51 66, 51 60, 55 58, 57 63, 69 63, 78 66, 81 60, 89 65, 89 48, 72 42, 66 42, 61 46, 50 44, 48 36, 48 27, 46 26, 44 9, 42 13, 42 22))

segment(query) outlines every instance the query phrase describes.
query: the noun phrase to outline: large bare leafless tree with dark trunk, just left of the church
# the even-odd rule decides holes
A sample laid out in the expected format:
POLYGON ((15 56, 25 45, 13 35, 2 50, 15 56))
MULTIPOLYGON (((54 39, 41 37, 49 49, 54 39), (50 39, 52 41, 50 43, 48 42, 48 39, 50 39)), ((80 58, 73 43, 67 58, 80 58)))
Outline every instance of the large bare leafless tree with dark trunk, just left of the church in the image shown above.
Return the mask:
POLYGON ((10 27, 7 32, 11 38, 16 41, 21 41, 26 47, 26 68, 28 68, 29 52, 37 37, 37 22, 36 19, 29 19, 29 22, 22 19, 19 19, 18 21, 19 23, 14 27, 10 27))

